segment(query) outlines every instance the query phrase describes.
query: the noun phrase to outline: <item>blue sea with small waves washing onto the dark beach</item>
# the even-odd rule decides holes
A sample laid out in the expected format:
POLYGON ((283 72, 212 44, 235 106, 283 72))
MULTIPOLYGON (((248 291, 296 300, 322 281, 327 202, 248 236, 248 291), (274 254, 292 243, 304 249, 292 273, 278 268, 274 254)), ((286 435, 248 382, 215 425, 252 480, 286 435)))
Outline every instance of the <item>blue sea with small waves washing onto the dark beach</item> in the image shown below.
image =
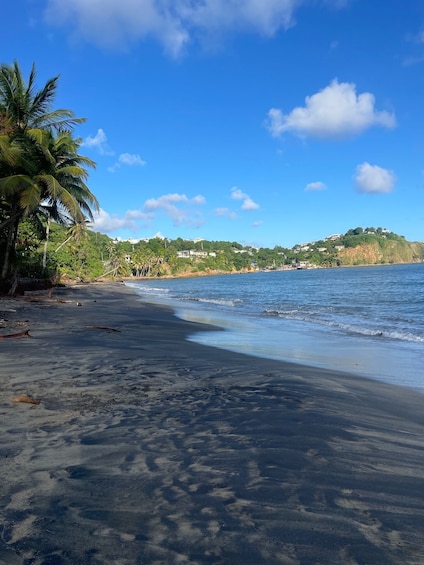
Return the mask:
POLYGON ((192 341, 424 392, 424 264, 127 284, 183 319, 226 330, 198 332, 192 341))

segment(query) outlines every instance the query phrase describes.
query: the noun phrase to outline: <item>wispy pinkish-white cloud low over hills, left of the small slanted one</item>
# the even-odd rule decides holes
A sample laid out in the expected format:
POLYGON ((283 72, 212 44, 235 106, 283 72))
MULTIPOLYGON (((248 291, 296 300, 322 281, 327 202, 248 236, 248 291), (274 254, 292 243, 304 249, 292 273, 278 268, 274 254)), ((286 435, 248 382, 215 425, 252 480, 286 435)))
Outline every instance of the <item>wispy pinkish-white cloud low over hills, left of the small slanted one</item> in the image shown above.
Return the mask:
POLYGON ((146 200, 143 211, 146 213, 163 212, 172 219, 175 226, 185 224, 198 227, 204 223, 204 220, 196 207, 202 206, 205 202, 205 198, 201 195, 188 198, 185 194, 165 194, 159 198, 146 200))

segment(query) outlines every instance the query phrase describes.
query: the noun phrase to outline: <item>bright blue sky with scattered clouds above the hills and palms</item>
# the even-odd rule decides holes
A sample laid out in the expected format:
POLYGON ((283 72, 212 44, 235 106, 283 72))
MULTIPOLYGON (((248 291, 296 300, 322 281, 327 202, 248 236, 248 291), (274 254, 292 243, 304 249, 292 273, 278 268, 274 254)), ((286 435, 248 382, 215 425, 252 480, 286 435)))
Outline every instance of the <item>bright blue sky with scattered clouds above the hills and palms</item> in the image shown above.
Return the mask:
POLYGON ((1 62, 87 122, 111 237, 424 240, 421 0, 16 0, 1 62))

